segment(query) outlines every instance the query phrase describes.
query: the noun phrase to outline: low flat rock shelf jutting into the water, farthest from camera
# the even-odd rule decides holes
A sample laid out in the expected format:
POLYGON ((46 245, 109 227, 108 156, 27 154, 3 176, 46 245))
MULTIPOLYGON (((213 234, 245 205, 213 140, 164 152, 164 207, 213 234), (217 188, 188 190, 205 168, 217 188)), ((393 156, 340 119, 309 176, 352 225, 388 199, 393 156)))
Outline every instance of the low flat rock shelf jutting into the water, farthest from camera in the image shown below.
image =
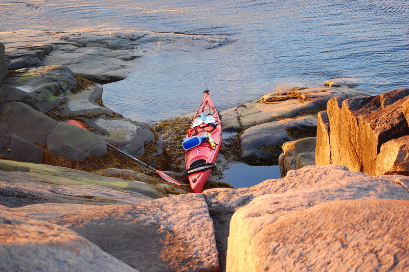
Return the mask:
POLYGON ((2 32, 10 69, 62 64, 86 79, 107 83, 125 79, 132 71, 131 60, 153 54, 166 44, 180 43, 190 51, 213 49, 229 44, 209 35, 121 32, 2 32))

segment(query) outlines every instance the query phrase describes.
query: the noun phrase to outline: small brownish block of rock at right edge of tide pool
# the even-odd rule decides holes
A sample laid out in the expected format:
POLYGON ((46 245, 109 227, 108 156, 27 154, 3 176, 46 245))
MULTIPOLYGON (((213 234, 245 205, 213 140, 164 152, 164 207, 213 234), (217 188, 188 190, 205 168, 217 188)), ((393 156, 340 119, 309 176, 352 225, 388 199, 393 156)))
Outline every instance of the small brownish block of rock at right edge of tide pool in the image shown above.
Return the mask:
POLYGON ((300 169, 306 165, 315 165, 316 137, 309 137, 283 144, 283 153, 279 157, 281 177, 289 170, 300 169))

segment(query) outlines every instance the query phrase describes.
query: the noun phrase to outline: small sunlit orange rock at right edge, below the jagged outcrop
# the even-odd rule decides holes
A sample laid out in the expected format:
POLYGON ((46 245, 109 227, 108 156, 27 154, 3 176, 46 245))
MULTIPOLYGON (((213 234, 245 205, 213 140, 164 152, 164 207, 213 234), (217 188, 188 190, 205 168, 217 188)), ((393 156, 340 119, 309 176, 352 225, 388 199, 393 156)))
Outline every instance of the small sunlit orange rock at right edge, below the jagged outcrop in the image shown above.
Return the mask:
POLYGON ((381 145, 376 157, 375 173, 409 176, 409 135, 392 139, 381 145))

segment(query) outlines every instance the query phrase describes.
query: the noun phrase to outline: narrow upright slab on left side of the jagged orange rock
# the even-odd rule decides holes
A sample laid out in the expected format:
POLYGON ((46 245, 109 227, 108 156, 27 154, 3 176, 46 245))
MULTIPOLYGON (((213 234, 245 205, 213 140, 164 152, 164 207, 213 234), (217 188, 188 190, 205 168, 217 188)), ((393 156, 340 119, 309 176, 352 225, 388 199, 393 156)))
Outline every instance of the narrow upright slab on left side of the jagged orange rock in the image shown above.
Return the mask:
POLYGON ((327 111, 318 113, 318 123, 316 127, 316 147, 315 147, 315 164, 331 164, 331 144, 330 144, 330 126, 327 111))

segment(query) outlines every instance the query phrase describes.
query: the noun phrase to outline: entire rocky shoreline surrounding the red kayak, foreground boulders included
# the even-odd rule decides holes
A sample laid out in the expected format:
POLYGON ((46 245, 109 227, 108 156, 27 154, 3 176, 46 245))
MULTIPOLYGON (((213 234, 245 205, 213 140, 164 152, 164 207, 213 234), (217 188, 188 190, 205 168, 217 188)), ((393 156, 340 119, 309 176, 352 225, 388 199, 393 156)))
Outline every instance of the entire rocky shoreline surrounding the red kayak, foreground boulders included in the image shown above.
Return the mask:
POLYGON ((369 96, 349 78, 319 87, 283 83, 224 110, 222 127, 232 136, 209 182, 216 188, 192 194, 104 143, 180 172, 176 146, 189 118, 126 119, 103 105, 100 83, 126 77, 127 60, 149 54, 156 41, 197 39, 212 48, 228 40, 150 32, 22 35, 8 33, 6 50, 0 43, 2 270, 409 266, 409 89, 369 96), (101 54, 112 66, 93 71, 89 65, 98 66, 101 54), (71 119, 87 129, 65 123, 71 119), (220 188, 229 187, 220 177, 232 161, 279 163, 282 178, 220 188))

